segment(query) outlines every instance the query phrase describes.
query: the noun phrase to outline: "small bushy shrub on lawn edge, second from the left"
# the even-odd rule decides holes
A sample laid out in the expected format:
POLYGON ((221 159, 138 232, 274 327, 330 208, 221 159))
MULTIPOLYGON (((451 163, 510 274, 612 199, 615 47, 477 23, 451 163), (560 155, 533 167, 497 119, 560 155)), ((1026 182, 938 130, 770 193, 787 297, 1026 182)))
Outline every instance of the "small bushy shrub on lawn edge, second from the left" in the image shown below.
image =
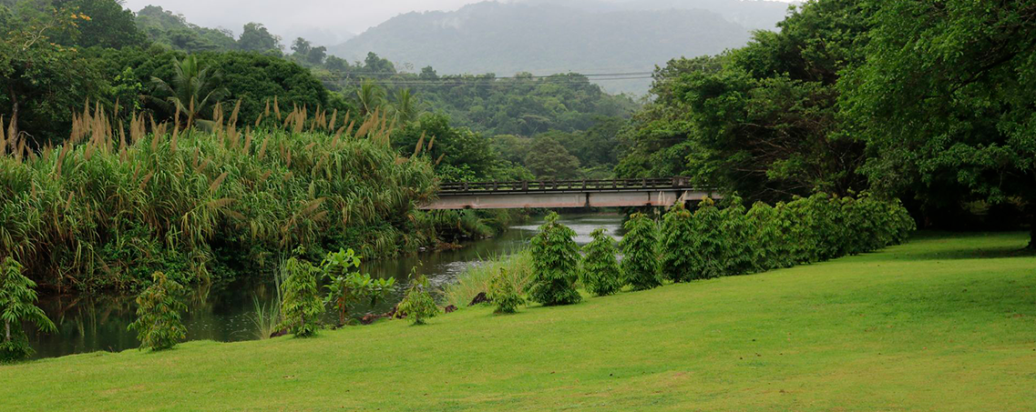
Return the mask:
POLYGON ((127 329, 137 330, 140 349, 172 349, 186 337, 188 329, 180 321, 180 312, 188 308, 180 301, 183 287, 163 272, 154 272, 151 281, 151 286, 137 296, 137 320, 127 329))

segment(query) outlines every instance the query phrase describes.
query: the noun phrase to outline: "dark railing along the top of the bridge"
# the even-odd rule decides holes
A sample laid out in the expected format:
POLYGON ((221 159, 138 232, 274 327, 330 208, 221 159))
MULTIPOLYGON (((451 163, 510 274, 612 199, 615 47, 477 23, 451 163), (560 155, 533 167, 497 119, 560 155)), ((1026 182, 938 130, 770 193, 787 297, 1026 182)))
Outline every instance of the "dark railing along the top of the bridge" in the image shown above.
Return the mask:
POLYGON ((662 179, 604 179, 604 180, 542 180, 495 182, 445 182, 439 185, 440 194, 499 193, 499 192, 559 192, 559 190, 631 190, 651 188, 694 188, 690 179, 673 177, 662 179))

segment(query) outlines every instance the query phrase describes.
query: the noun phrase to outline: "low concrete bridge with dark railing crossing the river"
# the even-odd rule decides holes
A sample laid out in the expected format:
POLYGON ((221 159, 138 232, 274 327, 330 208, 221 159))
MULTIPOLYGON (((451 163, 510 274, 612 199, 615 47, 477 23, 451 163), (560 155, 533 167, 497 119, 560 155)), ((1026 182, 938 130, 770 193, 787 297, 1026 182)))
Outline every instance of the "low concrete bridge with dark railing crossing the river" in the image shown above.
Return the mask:
POLYGON ((717 198, 688 178, 442 183, 424 210, 582 207, 669 207, 717 198))

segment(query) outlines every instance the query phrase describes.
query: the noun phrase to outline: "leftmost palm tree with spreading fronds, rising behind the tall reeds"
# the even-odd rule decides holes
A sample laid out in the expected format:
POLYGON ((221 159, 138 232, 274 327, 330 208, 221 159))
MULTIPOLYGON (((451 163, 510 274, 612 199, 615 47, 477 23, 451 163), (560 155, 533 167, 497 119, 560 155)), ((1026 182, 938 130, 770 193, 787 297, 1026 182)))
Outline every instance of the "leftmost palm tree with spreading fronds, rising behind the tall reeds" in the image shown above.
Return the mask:
POLYGON ((208 117, 212 108, 229 94, 225 87, 220 86, 223 75, 220 71, 209 72, 208 67, 202 67, 194 55, 183 61, 174 57, 173 70, 170 82, 151 78, 151 101, 166 113, 178 111, 184 118, 203 122, 210 120, 208 117))

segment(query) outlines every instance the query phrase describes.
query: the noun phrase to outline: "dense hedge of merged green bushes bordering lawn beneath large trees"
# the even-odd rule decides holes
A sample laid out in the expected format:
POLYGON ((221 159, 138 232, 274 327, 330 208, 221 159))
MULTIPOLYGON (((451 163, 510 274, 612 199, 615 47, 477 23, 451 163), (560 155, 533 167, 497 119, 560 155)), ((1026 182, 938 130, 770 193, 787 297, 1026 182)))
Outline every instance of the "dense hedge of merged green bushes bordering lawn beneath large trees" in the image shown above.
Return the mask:
MULTIPOLYGON (((898 201, 823 194, 776 207, 760 202, 750 210, 737 202, 720 209, 706 199, 692 220, 687 272, 693 279, 873 252, 905 241, 916 229, 898 201)), ((669 235, 663 229, 663 238, 669 235)))

